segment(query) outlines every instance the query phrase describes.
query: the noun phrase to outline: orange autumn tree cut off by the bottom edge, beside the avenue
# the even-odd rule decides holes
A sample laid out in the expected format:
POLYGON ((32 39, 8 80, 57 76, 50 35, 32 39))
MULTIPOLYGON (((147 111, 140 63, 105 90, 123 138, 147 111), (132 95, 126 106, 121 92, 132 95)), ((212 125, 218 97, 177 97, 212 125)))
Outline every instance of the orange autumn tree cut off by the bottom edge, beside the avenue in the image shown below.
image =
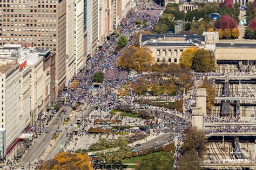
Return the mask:
POLYGON ((91 170, 90 158, 86 154, 60 152, 52 160, 44 161, 39 169, 91 170))

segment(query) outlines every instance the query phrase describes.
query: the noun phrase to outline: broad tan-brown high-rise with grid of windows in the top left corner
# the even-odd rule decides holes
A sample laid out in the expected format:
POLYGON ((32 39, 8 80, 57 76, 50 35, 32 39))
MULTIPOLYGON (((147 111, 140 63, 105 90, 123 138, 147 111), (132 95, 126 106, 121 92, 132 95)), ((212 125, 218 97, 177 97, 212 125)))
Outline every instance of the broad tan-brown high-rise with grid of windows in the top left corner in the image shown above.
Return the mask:
POLYGON ((66 77, 66 1, 0 0, 0 46, 33 42, 56 53, 56 93, 66 77))

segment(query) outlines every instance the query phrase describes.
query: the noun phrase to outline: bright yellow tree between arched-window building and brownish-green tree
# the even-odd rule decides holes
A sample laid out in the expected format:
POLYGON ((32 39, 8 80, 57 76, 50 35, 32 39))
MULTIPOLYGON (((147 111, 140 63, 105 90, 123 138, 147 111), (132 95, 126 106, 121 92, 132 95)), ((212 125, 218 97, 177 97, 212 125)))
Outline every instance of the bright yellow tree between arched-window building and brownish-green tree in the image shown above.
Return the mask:
POLYGON ((187 48, 180 56, 180 65, 190 69, 192 67, 192 59, 194 53, 197 52, 197 47, 187 48))

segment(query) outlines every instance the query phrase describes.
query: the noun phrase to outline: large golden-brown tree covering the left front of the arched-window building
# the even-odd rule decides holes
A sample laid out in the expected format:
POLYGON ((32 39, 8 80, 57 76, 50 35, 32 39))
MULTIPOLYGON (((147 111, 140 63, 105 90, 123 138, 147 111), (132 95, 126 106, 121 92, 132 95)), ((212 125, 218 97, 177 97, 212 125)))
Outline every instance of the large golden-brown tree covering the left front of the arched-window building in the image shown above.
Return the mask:
POLYGON ((138 48, 131 46, 126 48, 119 58, 117 65, 123 69, 135 69, 138 72, 143 70, 144 66, 152 65, 154 58, 149 48, 138 48))

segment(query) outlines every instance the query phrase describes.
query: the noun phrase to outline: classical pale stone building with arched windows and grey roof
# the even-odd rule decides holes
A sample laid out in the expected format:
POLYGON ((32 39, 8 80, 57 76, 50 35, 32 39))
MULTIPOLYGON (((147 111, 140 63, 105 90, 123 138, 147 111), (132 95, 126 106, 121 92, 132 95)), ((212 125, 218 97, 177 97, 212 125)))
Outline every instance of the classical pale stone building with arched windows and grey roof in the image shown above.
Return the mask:
POLYGON ((140 48, 147 47, 157 63, 179 63, 189 47, 204 48, 205 36, 179 34, 140 34, 140 48))

